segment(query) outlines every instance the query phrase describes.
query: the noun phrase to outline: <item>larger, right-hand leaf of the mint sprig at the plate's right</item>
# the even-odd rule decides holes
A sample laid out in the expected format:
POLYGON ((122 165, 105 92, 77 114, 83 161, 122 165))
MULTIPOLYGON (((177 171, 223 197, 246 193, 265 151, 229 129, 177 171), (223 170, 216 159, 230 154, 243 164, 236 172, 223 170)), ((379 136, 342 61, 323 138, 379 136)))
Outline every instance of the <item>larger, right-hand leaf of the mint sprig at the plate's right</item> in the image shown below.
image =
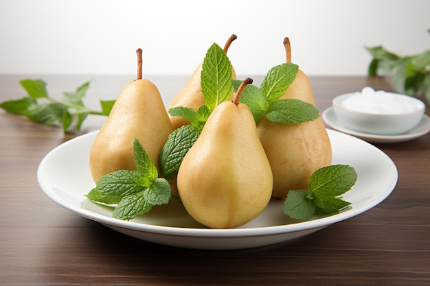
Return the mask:
POLYGON ((356 181, 357 172, 350 165, 330 165, 310 176, 309 189, 314 196, 338 196, 349 191, 356 181))

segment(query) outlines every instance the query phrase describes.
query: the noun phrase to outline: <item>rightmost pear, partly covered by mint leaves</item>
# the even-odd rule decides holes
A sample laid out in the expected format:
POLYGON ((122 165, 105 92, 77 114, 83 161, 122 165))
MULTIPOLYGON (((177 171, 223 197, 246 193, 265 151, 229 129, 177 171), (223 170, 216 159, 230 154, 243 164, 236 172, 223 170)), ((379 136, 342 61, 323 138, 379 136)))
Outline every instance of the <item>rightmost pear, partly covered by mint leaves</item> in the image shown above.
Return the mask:
MULTIPOLYGON (((284 38, 286 62, 291 62, 291 47, 284 38)), ((312 88, 299 69, 295 80, 280 99, 300 99, 315 106, 312 88)), ((262 117, 258 136, 273 172, 273 197, 284 199, 292 189, 308 189, 310 176, 331 164, 332 147, 321 117, 314 121, 285 125, 262 117)))

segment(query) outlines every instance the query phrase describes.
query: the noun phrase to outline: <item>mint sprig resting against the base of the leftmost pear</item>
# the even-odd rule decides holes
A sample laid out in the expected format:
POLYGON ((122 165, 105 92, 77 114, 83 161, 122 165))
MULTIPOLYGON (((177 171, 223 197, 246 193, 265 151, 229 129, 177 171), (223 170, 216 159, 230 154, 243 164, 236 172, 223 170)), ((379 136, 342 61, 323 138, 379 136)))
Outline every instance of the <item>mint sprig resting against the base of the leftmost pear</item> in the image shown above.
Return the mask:
POLYGON ((117 204, 113 217, 130 220, 148 213, 152 206, 167 204, 171 198, 170 184, 158 178, 158 171, 150 156, 135 139, 133 143, 136 170, 119 170, 98 180, 87 198, 103 204, 117 204))

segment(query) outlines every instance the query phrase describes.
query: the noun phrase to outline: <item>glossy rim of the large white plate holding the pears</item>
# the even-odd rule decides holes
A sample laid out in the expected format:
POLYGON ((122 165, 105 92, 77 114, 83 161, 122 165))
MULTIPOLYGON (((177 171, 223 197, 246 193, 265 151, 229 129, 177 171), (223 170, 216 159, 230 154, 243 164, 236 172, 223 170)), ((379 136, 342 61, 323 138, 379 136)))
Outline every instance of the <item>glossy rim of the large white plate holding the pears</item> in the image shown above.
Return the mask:
POLYGON ((349 134, 345 134, 343 132, 339 132, 337 130, 326 129, 328 133, 338 134, 339 136, 349 136, 354 140, 362 141, 363 144, 367 145, 374 150, 378 150, 378 152, 382 152, 389 163, 394 168, 394 179, 390 182, 389 186, 387 186, 387 190, 381 192, 375 199, 372 200, 371 204, 366 205, 361 208, 351 208, 348 211, 336 213, 334 215, 328 215, 326 217, 320 217, 313 220, 308 220, 306 222, 297 222, 294 224, 284 224, 278 226, 262 226, 262 227, 254 227, 254 228, 229 228, 229 229, 212 229, 212 228, 186 228, 186 227, 177 227, 177 226, 159 226, 155 224, 145 224, 142 222, 133 222, 133 221, 123 221, 121 219, 115 219, 113 217, 107 217, 106 215, 101 215, 99 213, 94 213, 92 211, 86 210, 84 208, 76 208, 69 202, 58 198, 58 196, 54 195, 52 190, 49 190, 48 187, 45 186, 43 182, 43 174, 42 170, 44 165, 47 162, 47 158, 50 156, 54 156, 54 152, 58 152, 61 148, 69 144, 73 144, 75 140, 82 139, 83 136, 94 136, 98 130, 93 132, 89 132, 87 134, 82 134, 77 136, 69 141, 66 141, 57 147, 54 147, 53 150, 49 151, 41 160, 37 169, 37 180, 38 184, 41 187, 43 193, 47 195, 52 201, 56 202, 60 206, 72 211, 73 213, 77 213, 82 217, 86 217, 87 219, 91 219, 95 222, 99 222, 101 224, 108 224, 111 226, 126 228, 129 230, 138 230, 146 233, 156 233, 156 234, 164 234, 164 235, 172 235, 172 236, 183 236, 183 237, 249 237, 249 236, 266 236, 266 235, 280 235, 285 233, 295 233, 302 230, 309 230, 312 228, 322 228, 324 226, 329 226, 331 224, 335 224, 337 222, 344 221, 346 219, 350 219, 351 217, 357 216, 361 213, 365 213, 365 211, 370 210, 374 206, 380 204, 385 200, 391 193, 394 191, 397 181, 398 181, 398 169, 391 158, 387 154, 385 154, 382 150, 378 149, 374 145, 367 143, 357 137, 351 136, 349 134), (339 218, 340 217, 340 218, 339 218), (264 232, 262 233, 262 230, 264 232))

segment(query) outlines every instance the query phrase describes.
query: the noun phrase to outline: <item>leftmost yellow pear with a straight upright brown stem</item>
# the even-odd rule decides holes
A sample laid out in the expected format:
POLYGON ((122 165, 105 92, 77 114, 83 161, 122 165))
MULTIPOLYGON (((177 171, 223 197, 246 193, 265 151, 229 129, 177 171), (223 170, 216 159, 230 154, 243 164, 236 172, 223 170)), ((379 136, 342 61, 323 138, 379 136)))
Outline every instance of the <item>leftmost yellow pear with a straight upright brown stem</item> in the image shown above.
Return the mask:
POLYGON ((173 131, 157 86, 142 79, 142 49, 137 49, 137 59, 137 79, 122 89, 91 145, 89 167, 94 182, 113 171, 136 169, 135 138, 159 169, 159 154, 173 131))

